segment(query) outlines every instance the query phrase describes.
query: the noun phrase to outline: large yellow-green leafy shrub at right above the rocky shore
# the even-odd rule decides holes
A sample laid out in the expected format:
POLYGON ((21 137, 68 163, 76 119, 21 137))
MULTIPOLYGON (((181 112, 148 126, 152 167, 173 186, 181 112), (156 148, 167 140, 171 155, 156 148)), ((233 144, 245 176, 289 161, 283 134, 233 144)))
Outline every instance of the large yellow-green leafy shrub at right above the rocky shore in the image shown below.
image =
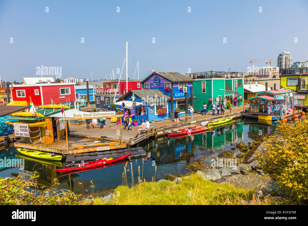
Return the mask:
POLYGON ((280 137, 265 137, 265 147, 258 153, 263 171, 296 200, 308 200, 308 120, 281 123, 280 137))

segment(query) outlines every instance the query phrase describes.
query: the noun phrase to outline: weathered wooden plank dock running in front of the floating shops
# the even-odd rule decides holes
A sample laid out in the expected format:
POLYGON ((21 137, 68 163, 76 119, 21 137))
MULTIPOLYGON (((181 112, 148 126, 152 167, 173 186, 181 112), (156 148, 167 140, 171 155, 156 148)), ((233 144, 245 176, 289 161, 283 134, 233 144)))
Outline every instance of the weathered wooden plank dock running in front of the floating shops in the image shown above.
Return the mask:
MULTIPOLYGON (((143 133, 137 136, 137 129, 140 127, 134 127, 134 130, 122 130, 122 146, 121 146, 121 135, 120 135, 120 125, 116 123, 111 123, 111 120, 106 118, 106 127, 99 128, 99 126, 94 129, 92 126, 91 129, 86 129, 86 123, 84 124, 71 124, 70 125, 70 135, 68 136, 68 152, 66 139, 56 139, 54 143, 49 145, 43 144, 31 144, 25 141, 19 141, 14 143, 15 147, 40 150, 43 152, 51 153, 62 153, 65 155, 75 154, 75 153, 85 153, 85 152, 95 152, 95 151, 104 151, 112 149, 125 149, 132 146, 138 146, 141 142, 148 140, 148 138, 160 137, 167 135, 168 132, 184 129, 186 127, 191 127, 195 125, 202 125, 203 122, 214 122, 217 120, 223 120, 225 118, 241 117, 241 113, 244 108, 248 105, 235 107, 231 110, 225 110, 224 115, 213 116, 212 112, 208 112, 206 115, 201 115, 197 113, 193 116, 193 119, 188 116, 188 122, 185 122, 185 117, 179 118, 179 123, 176 123, 174 120, 166 119, 162 121, 151 122, 151 126, 154 126, 152 130, 148 130, 148 133, 143 133), (104 137, 104 138, 102 138, 104 137), (104 145, 108 143, 108 145, 104 145), (104 149, 106 148, 106 149, 104 149)), ((122 124, 124 128, 124 125, 122 124)))

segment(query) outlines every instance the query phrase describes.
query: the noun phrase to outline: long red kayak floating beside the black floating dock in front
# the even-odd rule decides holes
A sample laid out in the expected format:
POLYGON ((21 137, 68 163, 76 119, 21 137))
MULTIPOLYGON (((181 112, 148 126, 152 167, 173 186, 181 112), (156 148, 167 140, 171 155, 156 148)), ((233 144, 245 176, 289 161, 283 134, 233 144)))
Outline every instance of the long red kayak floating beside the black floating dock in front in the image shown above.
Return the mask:
POLYGON ((89 162, 84 165, 79 164, 79 165, 75 165, 72 167, 68 167, 64 169, 55 169, 55 170, 59 172, 67 172, 67 171, 77 171, 81 169, 90 169, 90 168, 97 167, 97 166, 107 165, 115 161, 120 161, 122 159, 127 158, 130 154, 132 154, 132 152, 127 155, 122 155, 116 158, 105 158, 105 159, 95 160, 93 162, 89 162))

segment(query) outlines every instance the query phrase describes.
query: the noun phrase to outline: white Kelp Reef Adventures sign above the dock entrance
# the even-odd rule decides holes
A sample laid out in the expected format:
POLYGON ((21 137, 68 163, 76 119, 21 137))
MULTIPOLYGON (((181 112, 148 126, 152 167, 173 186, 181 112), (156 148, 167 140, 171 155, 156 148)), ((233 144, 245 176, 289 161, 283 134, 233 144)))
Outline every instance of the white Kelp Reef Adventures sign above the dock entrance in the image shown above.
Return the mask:
POLYGON ((49 117, 65 117, 65 118, 86 118, 86 117, 110 117, 114 116, 115 111, 103 111, 103 112, 84 112, 84 111, 77 111, 74 109, 68 109, 64 113, 56 113, 54 115, 50 115, 49 117), (65 114, 65 115, 64 115, 65 114))

